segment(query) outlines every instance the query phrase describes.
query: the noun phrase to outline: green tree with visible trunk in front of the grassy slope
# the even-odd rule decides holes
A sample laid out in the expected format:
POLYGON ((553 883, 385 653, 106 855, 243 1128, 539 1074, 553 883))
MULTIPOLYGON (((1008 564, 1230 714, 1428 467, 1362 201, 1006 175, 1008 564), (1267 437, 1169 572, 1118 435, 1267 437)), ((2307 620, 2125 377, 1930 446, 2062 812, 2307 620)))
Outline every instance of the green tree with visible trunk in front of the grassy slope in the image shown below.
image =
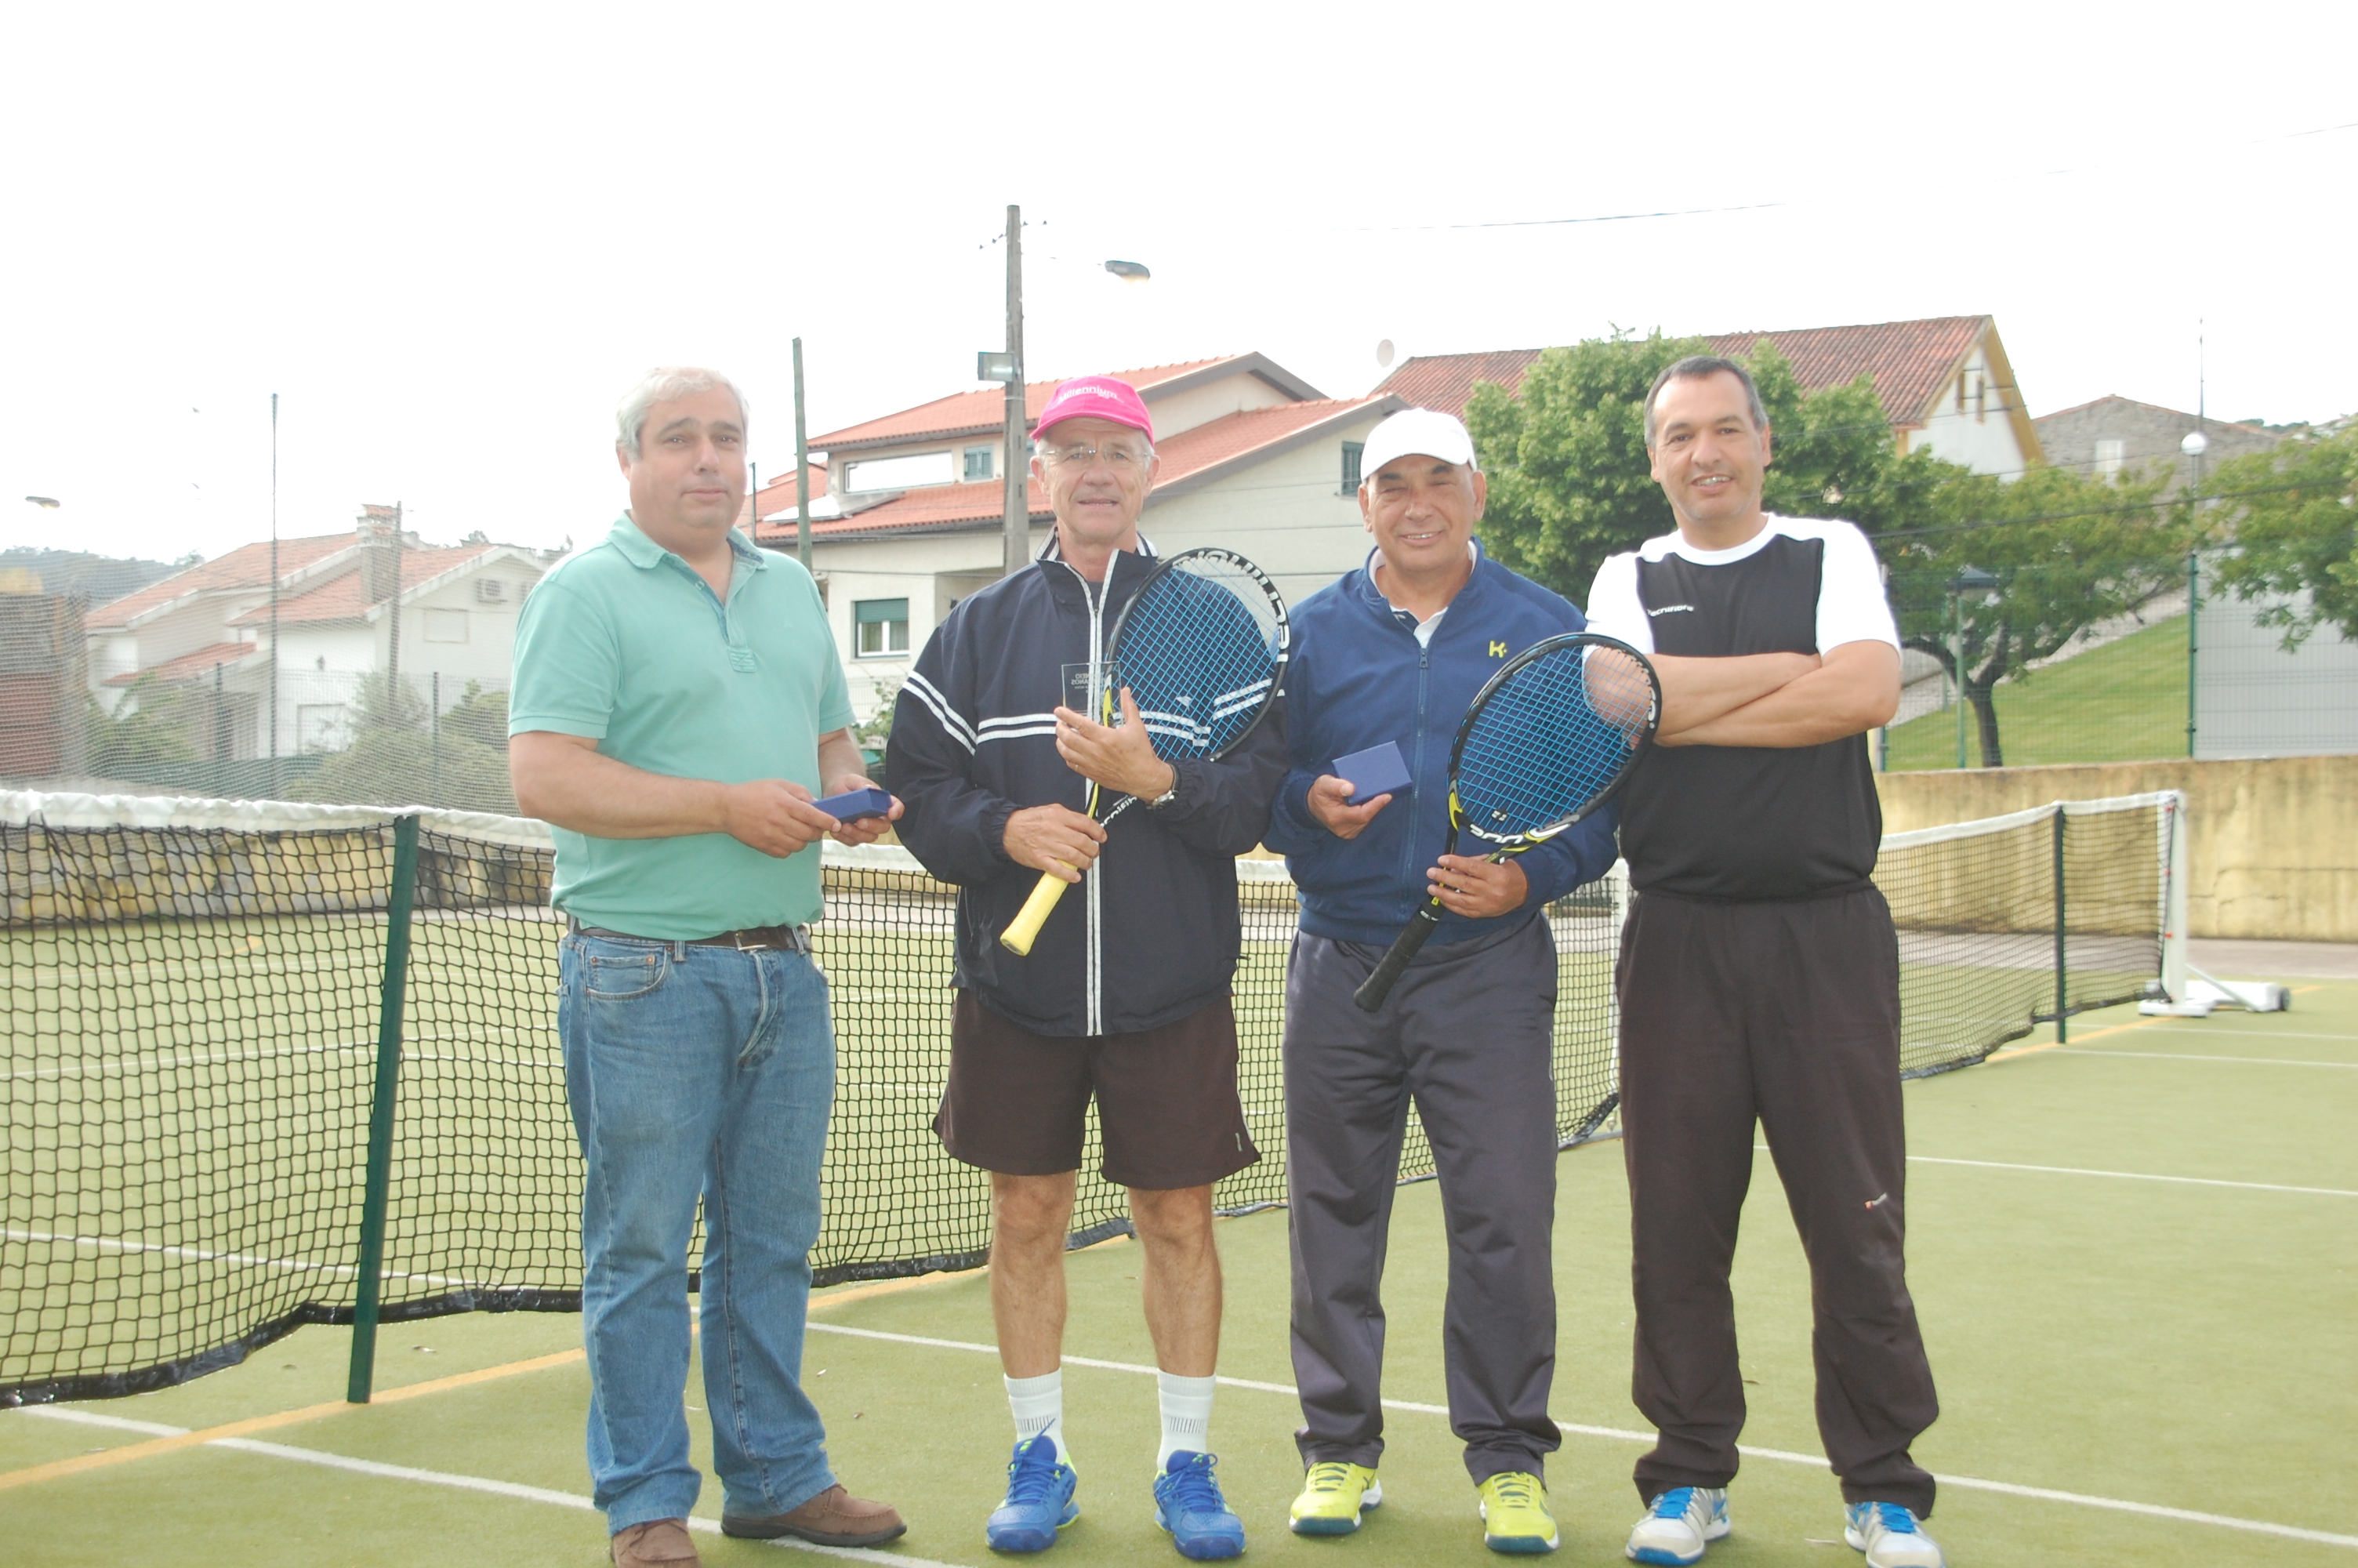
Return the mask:
POLYGON ((1901 641, 1941 660, 1971 703, 1981 766, 2004 766, 1997 681, 2035 679, 2033 663, 2181 580, 2191 535, 2162 505, 2165 483, 1955 474, 1929 498, 1938 523, 1884 540, 1901 641))

